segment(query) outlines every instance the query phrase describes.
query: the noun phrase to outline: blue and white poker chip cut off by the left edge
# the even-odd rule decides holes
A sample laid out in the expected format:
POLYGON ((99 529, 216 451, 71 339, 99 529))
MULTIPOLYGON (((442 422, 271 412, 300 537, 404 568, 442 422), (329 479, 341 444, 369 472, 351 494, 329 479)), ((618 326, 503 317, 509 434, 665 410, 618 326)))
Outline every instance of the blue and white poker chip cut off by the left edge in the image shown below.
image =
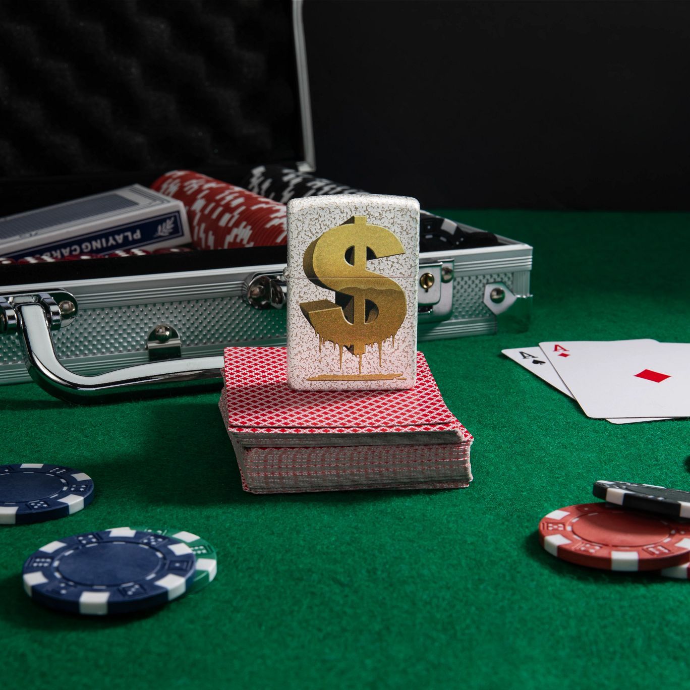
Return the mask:
POLYGON ((79 470, 25 462, 0 465, 0 524, 72 515, 93 500, 93 481, 79 470))

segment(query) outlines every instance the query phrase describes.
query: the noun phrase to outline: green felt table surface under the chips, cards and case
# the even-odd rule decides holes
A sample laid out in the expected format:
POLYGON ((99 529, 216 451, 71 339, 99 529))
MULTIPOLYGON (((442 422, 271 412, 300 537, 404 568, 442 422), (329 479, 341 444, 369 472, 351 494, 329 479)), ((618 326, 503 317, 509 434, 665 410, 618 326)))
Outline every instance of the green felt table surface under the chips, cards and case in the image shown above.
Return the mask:
POLYGON ((535 246, 528 333, 421 346, 475 435, 469 489, 250 495, 216 393, 86 408, 0 388, 3 462, 75 466, 97 487, 71 517, 0 528, 2 687, 687 684, 690 582, 561 562, 535 529, 595 500, 594 480, 689 489, 690 422, 590 420, 500 350, 690 340, 690 215, 448 213, 535 246), (117 619, 59 615, 23 593, 34 549, 131 523, 215 544, 215 582, 117 619))

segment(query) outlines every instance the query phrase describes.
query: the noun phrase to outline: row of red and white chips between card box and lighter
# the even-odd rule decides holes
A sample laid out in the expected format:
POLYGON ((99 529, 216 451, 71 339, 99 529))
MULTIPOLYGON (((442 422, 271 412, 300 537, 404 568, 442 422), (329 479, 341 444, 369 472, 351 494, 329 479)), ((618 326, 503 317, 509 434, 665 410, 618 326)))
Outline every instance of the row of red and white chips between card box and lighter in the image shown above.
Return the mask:
POLYGON ((151 188, 179 199, 199 249, 286 244, 285 205, 191 170, 173 170, 151 188))

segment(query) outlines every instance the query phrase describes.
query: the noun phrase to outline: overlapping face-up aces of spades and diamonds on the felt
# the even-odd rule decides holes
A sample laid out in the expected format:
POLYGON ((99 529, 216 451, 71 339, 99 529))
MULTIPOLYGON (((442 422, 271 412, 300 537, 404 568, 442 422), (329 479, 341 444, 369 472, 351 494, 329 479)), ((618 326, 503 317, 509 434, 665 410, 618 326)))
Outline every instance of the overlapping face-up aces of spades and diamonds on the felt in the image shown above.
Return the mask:
POLYGON ((542 342, 502 353, 613 424, 690 416, 690 344, 656 340, 542 342))

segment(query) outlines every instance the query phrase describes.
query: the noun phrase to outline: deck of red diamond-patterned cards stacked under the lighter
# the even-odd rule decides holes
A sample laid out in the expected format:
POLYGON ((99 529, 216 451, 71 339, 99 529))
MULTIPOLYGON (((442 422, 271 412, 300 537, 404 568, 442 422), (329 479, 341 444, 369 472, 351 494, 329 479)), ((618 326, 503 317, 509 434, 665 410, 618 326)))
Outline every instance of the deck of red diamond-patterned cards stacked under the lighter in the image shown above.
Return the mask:
POLYGON ((473 437, 422 353, 406 391, 295 391, 284 347, 226 348, 219 407, 251 493, 459 489, 473 437))

